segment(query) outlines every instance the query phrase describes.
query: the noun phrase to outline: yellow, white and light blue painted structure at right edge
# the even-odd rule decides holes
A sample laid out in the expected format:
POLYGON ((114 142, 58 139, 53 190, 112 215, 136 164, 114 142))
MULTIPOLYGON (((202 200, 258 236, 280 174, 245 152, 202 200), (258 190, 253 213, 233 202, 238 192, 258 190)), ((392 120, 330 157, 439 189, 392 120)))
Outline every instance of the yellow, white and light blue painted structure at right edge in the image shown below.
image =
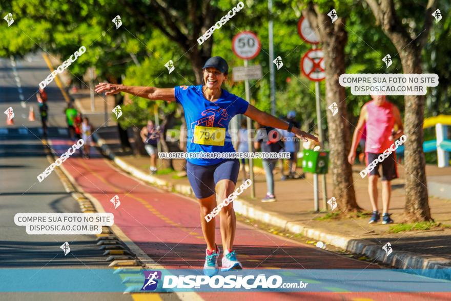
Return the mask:
MULTIPOLYGON (((451 152, 451 140, 446 139, 448 126, 451 126, 451 115, 438 115, 424 119, 423 129, 435 126, 437 139, 425 141, 423 151, 433 152, 437 150, 438 167, 449 166, 449 152, 451 152)), ((404 153, 404 146, 400 146, 396 153, 404 153)))

